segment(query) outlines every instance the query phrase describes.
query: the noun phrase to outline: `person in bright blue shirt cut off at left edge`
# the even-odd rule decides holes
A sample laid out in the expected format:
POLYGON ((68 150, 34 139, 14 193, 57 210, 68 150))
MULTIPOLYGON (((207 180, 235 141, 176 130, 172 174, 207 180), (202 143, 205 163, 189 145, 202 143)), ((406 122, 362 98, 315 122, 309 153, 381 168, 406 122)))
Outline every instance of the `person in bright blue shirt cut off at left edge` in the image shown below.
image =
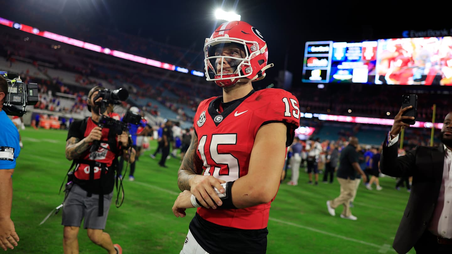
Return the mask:
POLYGON ((13 201, 13 173, 20 153, 19 132, 3 111, 3 103, 8 93, 8 83, 0 76, 0 248, 14 249, 19 236, 11 221, 13 201))

